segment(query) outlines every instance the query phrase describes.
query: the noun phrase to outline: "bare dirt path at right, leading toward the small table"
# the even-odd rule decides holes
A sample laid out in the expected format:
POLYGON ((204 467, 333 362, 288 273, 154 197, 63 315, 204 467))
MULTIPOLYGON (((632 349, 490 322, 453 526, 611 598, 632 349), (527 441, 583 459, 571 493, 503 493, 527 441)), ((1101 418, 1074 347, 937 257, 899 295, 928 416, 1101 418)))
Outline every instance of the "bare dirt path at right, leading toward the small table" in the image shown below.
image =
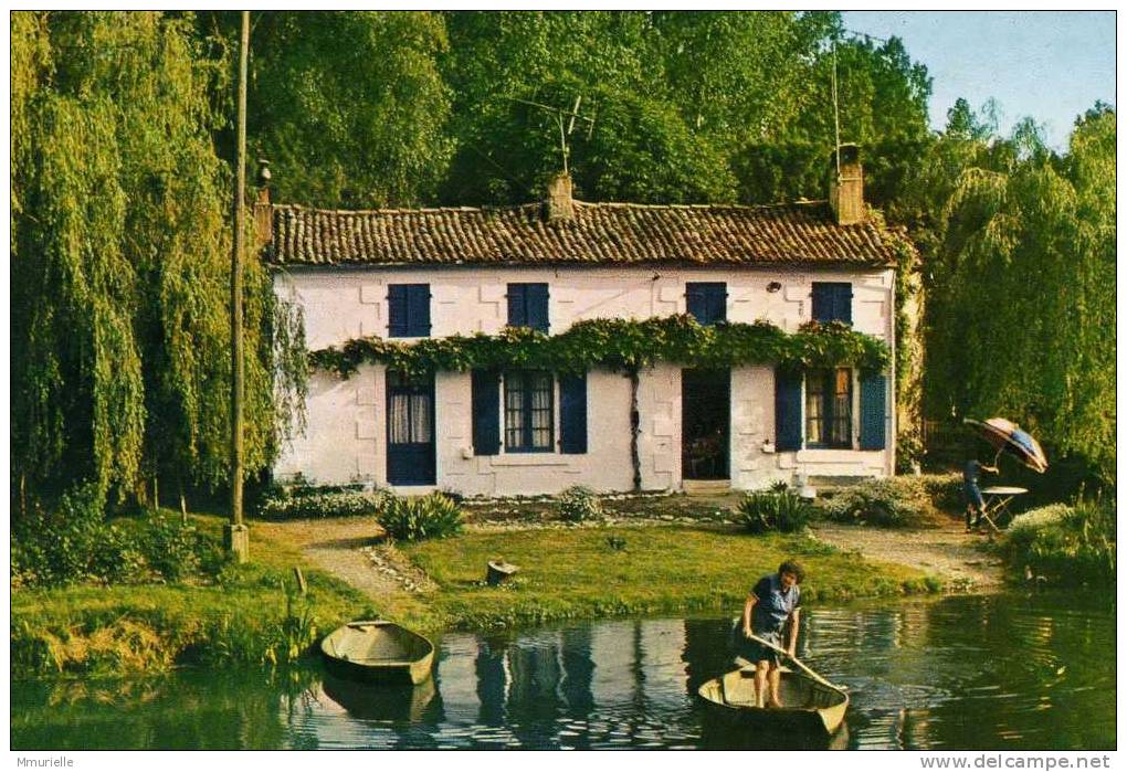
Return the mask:
POLYGON ((984 536, 965 533, 959 523, 920 530, 818 523, 814 533, 840 549, 938 575, 956 591, 996 592, 1003 585, 1002 561, 984 549, 984 536))

